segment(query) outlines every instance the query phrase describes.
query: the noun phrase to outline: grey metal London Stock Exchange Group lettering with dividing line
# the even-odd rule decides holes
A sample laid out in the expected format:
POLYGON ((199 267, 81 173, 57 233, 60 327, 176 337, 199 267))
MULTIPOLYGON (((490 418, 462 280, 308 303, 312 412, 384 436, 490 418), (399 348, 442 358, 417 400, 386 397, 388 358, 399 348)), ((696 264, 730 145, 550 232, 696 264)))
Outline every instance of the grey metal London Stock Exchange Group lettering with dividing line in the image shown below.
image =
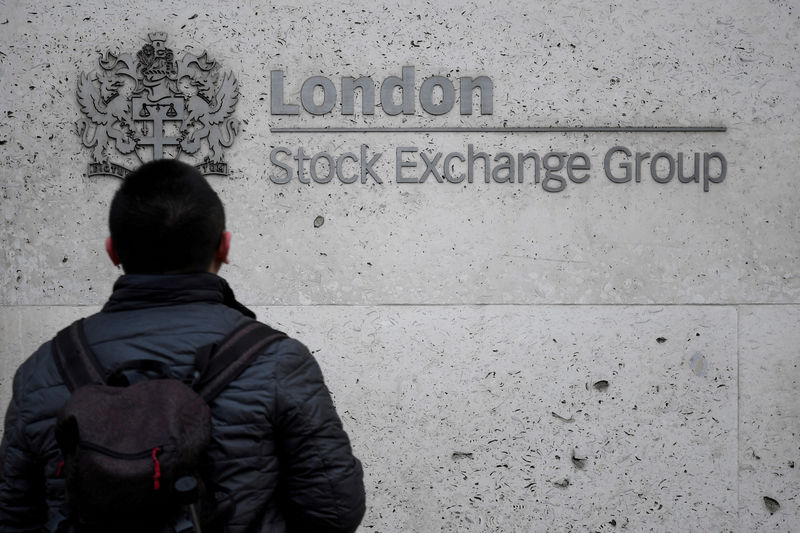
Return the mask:
MULTIPOLYGON (((376 86, 370 76, 354 78, 344 76, 337 91, 336 84, 326 76, 315 75, 307 78, 299 90, 299 102, 287 98, 287 92, 295 95, 296 88, 287 91, 286 72, 273 70, 270 74, 270 112, 273 116, 298 116, 301 109, 311 115, 327 115, 336 111, 337 98, 341 98, 342 116, 355 115, 356 90, 361 94, 361 115, 375 114, 376 99, 380 95, 380 108, 386 115, 417 115, 416 100, 422 111, 429 115, 443 116, 455 108, 456 97, 460 100, 458 112, 461 116, 472 115, 474 104, 481 115, 494 114, 494 83, 485 75, 464 76, 455 84, 446 76, 433 75, 425 78, 417 90, 416 69, 413 65, 403 66, 401 75, 388 76, 376 86), (379 87, 379 89, 376 89, 379 87), (475 98, 475 93, 479 100, 475 98), (317 93, 315 95, 315 93, 317 93), (435 96, 438 94, 438 97, 435 96), (322 103, 317 103, 321 96, 322 103), (398 98, 399 97, 399 98, 398 98), (399 101, 398 101, 399 100, 399 101)), ((289 87, 292 84, 289 83, 289 87)), ((295 85, 296 87, 296 85, 295 85)), ((504 121, 505 123, 505 121, 504 121)), ((313 134, 439 134, 439 133, 481 133, 502 135, 528 135, 536 133, 724 133, 724 126, 447 126, 447 125, 408 125, 402 126, 359 126, 357 120, 349 120, 342 126, 279 126, 271 127, 273 134, 291 133, 313 134)), ((592 177, 592 170, 601 166, 603 174, 610 183, 629 184, 652 181, 658 184, 678 182, 681 184, 702 184, 702 190, 709 192, 711 184, 725 181, 728 161, 717 150, 692 150, 691 152, 661 149, 651 154, 649 151, 631 150, 627 146, 616 145, 605 150, 602 165, 592 161, 584 152, 567 152, 550 149, 545 153, 525 148, 512 153, 499 150, 496 153, 484 152, 465 139, 466 150, 442 152, 435 149, 420 150, 415 146, 396 146, 394 151, 394 171, 382 175, 376 168, 379 160, 392 158, 391 152, 375 152, 369 145, 361 143, 359 149, 351 148, 338 154, 324 150, 309 150, 307 147, 279 145, 269 154, 273 172, 269 179, 275 184, 284 185, 296 180, 304 185, 344 183, 383 185, 394 181, 396 184, 442 183, 461 184, 490 183, 529 183, 541 185, 542 190, 551 193, 564 191, 568 184, 583 184, 592 177), (649 176, 649 180, 647 179, 649 176)), ((391 163, 390 163, 391 164, 391 163)), ((596 172, 595 172, 596 173, 596 172)), ((594 180, 592 180, 594 181, 594 180)))

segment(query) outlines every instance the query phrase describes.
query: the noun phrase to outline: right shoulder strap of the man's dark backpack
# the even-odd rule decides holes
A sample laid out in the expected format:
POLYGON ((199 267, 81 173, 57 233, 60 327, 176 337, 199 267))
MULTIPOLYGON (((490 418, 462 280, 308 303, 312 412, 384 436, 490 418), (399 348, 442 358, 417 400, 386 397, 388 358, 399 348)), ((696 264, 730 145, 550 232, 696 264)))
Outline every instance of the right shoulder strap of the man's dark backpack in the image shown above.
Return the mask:
POLYGON ((200 368, 195 391, 210 403, 253 362, 253 359, 274 341, 287 335, 260 322, 247 322, 236 328, 217 345, 200 368))

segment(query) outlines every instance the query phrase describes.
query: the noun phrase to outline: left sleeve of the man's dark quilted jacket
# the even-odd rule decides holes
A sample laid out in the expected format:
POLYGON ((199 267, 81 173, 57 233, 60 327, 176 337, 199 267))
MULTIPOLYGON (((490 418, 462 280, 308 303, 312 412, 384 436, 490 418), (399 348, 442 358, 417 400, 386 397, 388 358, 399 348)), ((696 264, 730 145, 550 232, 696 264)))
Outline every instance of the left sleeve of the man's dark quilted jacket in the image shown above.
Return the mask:
POLYGON ((47 520, 44 471, 30 449, 19 413, 19 372, 0 444, 0 531, 41 531, 47 520))

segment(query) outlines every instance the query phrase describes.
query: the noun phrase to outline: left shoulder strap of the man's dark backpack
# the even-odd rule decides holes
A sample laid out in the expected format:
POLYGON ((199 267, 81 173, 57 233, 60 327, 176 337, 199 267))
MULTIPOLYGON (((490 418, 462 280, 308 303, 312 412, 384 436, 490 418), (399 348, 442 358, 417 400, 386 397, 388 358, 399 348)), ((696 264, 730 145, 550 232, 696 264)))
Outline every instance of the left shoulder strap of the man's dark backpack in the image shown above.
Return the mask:
POLYGON ((83 319, 59 331, 52 346, 56 367, 70 392, 90 383, 105 383, 105 370, 89 348, 83 319))

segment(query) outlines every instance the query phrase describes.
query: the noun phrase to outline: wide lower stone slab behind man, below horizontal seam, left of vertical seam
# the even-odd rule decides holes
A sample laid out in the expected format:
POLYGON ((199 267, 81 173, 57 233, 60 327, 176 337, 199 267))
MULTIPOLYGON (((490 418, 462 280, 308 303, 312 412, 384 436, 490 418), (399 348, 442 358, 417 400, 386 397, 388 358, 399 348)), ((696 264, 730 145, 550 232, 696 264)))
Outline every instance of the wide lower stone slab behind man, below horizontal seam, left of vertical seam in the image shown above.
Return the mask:
MULTIPOLYGON (((35 346, 79 311, 6 308, 0 333, 35 346)), ((736 530, 734 308, 256 311, 323 368, 363 531, 736 530)))

